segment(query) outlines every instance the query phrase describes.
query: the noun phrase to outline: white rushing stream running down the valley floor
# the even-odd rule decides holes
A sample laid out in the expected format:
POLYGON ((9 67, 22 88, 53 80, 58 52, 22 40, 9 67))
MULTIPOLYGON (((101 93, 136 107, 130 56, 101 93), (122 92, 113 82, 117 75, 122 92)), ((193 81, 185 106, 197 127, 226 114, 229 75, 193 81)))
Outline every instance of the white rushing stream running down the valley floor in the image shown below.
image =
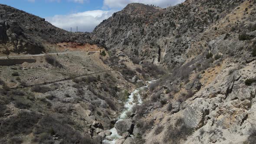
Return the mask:
MULTIPOLYGON (((128 98, 128 100, 125 103, 124 110, 121 112, 121 114, 118 117, 118 121, 121 121, 121 120, 127 118, 126 113, 130 112, 132 110, 133 106, 141 105, 142 104, 141 92, 146 91, 148 89, 148 85, 153 83, 153 82, 155 82, 155 81, 156 80, 148 82, 148 84, 146 86, 143 86, 141 88, 135 89, 135 91, 132 92, 131 95, 129 95, 129 98, 128 98), (137 99, 137 100, 135 101, 135 99, 137 99)), ((105 137, 105 140, 103 141, 103 144, 115 144, 115 141, 118 138, 122 137, 121 135, 117 134, 117 131, 116 131, 115 128, 112 128, 109 131, 111 131, 112 134, 107 136, 107 137, 111 137, 113 140, 112 141, 108 141, 106 139, 107 137, 105 137)))

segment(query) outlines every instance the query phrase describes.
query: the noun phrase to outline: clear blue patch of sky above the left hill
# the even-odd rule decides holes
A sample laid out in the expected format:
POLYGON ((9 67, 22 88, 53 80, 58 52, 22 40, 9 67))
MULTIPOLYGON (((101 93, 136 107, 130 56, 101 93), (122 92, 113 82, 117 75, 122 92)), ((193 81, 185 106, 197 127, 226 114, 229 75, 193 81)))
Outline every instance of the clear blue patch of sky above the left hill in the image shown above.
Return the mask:
POLYGON ((98 10, 103 7, 103 0, 84 0, 83 3, 73 0, 0 0, 0 3, 40 17, 98 10))

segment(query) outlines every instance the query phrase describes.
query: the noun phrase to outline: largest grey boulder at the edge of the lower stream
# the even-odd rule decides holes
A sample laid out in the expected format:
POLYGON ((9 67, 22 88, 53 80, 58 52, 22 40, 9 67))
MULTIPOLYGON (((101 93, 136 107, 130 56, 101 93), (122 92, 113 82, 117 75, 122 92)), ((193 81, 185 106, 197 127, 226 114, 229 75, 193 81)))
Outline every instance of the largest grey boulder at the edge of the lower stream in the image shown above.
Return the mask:
POLYGON ((134 124, 132 123, 131 119, 124 119, 116 122, 114 127, 119 135, 122 135, 126 131, 132 134, 134 124))

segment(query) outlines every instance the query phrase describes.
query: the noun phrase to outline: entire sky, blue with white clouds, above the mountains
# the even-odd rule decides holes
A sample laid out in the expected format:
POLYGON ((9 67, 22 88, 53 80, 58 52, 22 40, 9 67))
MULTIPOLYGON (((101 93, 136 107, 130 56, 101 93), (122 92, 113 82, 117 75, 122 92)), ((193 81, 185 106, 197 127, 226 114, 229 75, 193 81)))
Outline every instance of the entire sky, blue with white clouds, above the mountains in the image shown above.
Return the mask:
POLYGON ((128 3, 154 4, 159 7, 175 5, 184 0, 0 0, 36 16, 46 18, 54 26, 69 30, 92 32, 102 20, 123 9, 128 3))

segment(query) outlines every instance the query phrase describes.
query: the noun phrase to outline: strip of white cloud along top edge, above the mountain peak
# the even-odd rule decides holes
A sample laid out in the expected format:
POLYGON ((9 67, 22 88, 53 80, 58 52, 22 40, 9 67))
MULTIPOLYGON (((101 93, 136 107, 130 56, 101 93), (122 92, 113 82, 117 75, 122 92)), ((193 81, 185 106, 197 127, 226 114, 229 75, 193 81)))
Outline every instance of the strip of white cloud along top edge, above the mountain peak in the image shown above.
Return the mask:
POLYGON ((158 7, 167 7, 168 4, 175 5, 182 3, 184 0, 104 0, 104 7, 108 8, 124 8, 129 3, 153 4, 158 7))

